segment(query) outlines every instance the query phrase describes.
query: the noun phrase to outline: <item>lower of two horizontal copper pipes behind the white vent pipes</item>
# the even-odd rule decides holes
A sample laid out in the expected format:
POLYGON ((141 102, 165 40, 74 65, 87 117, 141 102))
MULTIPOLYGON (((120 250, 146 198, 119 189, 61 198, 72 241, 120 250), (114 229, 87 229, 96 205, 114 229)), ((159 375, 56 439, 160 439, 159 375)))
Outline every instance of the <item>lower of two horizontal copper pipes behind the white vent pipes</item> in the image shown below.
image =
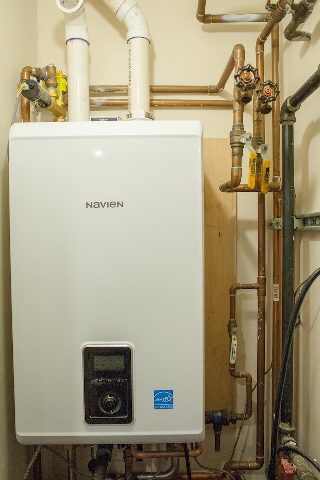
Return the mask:
MULTIPOLYGON (((64 102, 67 106, 67 99, 64 102)), ((91 107, 128 107, 128 100, 91 98, 91 107)), ((210 108, 217 110, 231 110, 232 100, 150 100, 150 106, 153 108, 210 108)))

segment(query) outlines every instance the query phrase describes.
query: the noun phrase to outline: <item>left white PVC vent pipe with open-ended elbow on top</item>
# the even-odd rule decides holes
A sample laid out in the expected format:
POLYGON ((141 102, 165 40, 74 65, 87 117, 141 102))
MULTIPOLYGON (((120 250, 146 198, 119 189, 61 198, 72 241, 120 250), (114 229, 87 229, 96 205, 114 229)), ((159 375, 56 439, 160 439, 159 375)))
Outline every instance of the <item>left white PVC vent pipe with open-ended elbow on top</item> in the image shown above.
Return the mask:
POLYGON ((65 20, 68 121, 90 121, 89 35, 84 0, 55 0, 65 20))

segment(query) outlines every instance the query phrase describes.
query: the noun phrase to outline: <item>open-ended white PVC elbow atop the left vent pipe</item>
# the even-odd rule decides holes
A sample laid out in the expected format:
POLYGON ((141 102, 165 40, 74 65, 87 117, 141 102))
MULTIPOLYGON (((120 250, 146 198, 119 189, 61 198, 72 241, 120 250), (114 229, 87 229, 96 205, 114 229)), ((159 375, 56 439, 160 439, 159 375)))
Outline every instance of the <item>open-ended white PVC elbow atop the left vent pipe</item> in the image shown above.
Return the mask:
POLYGON ((65 42, 69 40, 84 40, 89 44, 84 0, 79 0, 73 8, 67 8, 67 0, 55 0, 57 7, 62 11, 65 21, 65 42))

